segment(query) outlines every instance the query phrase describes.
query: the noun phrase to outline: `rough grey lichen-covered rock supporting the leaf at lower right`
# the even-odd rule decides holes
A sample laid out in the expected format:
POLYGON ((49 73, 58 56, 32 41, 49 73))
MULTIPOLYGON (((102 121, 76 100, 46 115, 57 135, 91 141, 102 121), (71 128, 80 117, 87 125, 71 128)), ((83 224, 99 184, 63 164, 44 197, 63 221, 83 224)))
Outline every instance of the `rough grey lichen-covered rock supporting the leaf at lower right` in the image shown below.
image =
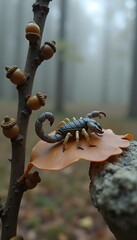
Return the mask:
POLYGON ((117 240, 137 240, 137 142, 89 173, 92 202, 117 240))

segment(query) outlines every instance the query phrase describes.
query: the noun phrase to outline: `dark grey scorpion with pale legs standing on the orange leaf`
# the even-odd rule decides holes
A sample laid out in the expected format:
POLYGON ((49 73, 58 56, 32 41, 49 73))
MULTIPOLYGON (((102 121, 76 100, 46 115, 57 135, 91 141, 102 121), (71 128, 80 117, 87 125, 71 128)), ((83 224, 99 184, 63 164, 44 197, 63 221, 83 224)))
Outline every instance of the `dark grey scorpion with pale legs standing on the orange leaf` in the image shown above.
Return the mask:
POLYGON ((58 124, 55 134, 49 135, 44 132, 42 123, 47 119, 50 123, 50 126, 52 126, 54 123, 54 116, 51 112, 44 112, 38 117, 35 122, 35 131, 43 141, 46 141, 48 143, 56 143, 63 140, 63 152, 66 149, 66 144, 69 141, 69 138, 75 136, 77 148, 83 150, 83 148, 80 146, 79 141, 80 133, 84 135, 88 142, 88 145, 94 147, 95 145, 91 144, 88 129, 90 129, 91 132, 94 132, 98 136, 101 136, 104 133, 101 125, 95 119, 93 119, 96 117, 101 118, 101 115, 104 115, 106 117, 106 114, 102 111, 92 111, 85 117, 80 117, 80 119, 73 118, 73 120, 70 121, 69 118, 65 118, 58 124))

